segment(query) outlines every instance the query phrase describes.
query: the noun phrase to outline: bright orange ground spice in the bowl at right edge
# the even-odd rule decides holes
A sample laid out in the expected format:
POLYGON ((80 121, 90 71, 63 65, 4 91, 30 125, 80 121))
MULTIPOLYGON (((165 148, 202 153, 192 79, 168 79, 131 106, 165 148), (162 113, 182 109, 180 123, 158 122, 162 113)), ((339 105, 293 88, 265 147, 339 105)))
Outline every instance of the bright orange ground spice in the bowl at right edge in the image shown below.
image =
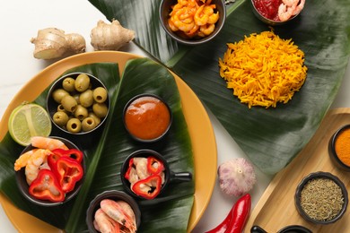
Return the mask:
POLYGON ((337 158, 347 166, 350 166, 350 128, 346 128, 337 136, 335 144, 337 158))

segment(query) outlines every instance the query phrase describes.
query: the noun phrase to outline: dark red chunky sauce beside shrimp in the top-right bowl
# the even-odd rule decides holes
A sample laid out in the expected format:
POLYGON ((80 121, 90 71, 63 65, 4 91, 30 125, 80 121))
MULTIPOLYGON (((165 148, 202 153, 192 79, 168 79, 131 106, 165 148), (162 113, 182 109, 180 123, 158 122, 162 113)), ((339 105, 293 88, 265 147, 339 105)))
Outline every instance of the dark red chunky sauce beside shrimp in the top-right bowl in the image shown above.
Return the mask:
POLYGON ((278 17, 278 7, 282 0, 253 0, 255 8, 265 18, 273 21, 280 21, 278 17))

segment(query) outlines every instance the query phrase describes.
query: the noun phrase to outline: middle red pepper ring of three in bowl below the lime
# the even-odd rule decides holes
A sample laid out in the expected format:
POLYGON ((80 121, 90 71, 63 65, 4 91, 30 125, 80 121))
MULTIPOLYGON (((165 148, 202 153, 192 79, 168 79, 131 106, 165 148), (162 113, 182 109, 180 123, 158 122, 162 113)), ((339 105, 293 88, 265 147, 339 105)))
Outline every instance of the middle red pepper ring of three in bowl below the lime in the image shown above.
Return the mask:
POLYGON ((65 193, 74 189, 76 182, 83 178, 83 167, 76 160, 62 156, 57 160, 53 169, 57 176, 58 183, 65 193))

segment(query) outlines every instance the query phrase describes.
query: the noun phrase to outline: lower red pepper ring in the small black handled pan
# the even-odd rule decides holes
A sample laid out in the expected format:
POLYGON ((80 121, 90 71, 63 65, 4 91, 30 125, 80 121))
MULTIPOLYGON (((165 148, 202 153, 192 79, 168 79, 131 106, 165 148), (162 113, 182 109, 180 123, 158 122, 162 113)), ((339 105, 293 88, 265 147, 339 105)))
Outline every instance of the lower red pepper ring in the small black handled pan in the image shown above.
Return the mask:
POLYGON ((145 199, 155 198, 162 189, 162 177, 159 175, 152 175, 142 180, 137 181, 131 190, 145 199))

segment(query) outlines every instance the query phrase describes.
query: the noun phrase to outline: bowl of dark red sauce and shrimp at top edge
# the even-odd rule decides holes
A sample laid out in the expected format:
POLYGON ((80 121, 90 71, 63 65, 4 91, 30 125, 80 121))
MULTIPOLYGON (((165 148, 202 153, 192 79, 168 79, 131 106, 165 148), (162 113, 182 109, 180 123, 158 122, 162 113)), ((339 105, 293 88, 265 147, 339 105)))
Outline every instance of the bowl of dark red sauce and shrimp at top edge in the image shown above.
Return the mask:
POLYGON ((250 4, 253 13, 260 21, 277 26, 293 21, 302 12, 305 1, 282 0, 278 5, 277 2, 274 5, 273 0, 250 0, 250 4), (270 4, 268 7, 267 2, 270 4), (264 12, 261 8, 264 8, 264 12))

